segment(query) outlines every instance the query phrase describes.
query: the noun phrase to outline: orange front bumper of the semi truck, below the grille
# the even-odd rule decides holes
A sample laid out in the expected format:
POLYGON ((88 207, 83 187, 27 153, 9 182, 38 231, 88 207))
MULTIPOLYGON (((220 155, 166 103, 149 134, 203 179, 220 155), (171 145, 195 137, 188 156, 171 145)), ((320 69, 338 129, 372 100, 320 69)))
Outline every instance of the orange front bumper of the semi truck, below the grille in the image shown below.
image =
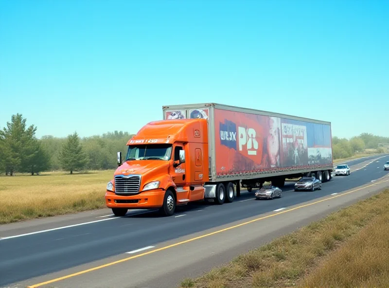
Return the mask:
POLYGON ((106 206, 108 208, 149 209, 162 207, 165 191, 156 189, 137 195, 120 196, 106 191, 106 206))

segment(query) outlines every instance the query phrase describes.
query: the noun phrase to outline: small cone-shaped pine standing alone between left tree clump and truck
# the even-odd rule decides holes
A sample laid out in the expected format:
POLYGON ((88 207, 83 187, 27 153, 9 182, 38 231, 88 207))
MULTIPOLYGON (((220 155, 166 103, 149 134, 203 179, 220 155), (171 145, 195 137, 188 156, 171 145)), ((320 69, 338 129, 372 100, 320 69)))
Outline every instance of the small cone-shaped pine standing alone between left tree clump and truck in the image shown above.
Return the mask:
POLYGON ((82 150, 77 132, 68 136, 67 142, 63 145, 60 154, 61 166, 64 170, 70 171, 82 169, 87 163, 87 156, 82 150))

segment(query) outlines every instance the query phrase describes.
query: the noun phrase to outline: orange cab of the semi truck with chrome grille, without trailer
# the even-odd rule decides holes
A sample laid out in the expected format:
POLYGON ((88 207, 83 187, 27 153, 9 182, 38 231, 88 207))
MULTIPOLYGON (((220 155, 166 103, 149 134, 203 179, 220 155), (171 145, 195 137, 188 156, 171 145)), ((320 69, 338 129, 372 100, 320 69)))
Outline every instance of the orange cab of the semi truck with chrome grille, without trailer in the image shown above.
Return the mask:
POLYGON ((122 162, 106 187, 106 206, 116 216, 128 209, 159 208, 166 216, 177 205, 203 200, 209 180, 208 129, 205 119, 151 122, 128 143, 122 162))

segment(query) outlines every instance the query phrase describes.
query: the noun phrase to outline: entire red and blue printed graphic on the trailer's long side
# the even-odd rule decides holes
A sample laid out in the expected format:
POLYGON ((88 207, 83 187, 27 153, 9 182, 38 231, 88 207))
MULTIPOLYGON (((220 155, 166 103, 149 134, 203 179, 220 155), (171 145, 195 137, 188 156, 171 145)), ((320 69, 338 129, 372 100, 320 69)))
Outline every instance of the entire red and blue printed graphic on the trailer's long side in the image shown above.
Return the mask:
POLYGON ((332 165, 331 126, 215 109, 216 174, 332 165))

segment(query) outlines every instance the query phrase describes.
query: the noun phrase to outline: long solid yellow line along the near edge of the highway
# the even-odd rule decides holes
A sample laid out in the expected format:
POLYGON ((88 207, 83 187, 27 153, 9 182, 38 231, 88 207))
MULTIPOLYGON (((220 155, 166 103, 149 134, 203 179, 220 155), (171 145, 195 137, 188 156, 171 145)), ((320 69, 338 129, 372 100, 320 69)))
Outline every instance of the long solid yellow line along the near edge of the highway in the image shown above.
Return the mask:
POLYGON ((389 180, 384 180, 384 181, 381 181, 381 182, 377 182, 377 183, 371 184, 369 186, 365 186, 365 187, 362 187, 362 188, 355 189, 353 191, 349 191, 349 192, 346 192, 346 193, 338 194, 338 195, 330 197, 330 198, 325 198, 325 199, 322 199, 322 200, 318 200, 316 202, 304 204, 304 205, 301 205, 301 206, 298 206, 298 207, 295 207, 295 208, 291 208, 291 209, 288 209, 288 210, 283 210, 283 211, 275 213, 275 214, 271 214, 271 215, 268 215, 268 216, 263 216, 263 217, 260 217, 260 218, 257 218, 257 219, 253 219, 253 220, 250 220, 250 221, 247 221, 247 222, 244 222, 244 223, 241 223, 241 224, 237 224, 237 225, 234 225, 234 226, 231 226, 231 227, 227 227, 227 228, 224 228, 224 229, 221 229, 221 230, 209 233, 209 234, 204 234, 204 235, 197 236, 197 237, 194 237, 194 238, 191 238, 191 239, 188 239, 188 240, 185 240, 185 241, 181 241, 181 242, 178 242, 178 243, 175 243, 175 244, 172 244, 172 245, 168 245, 168 246, 165 246, 165 247, 154 249, 154 250, 151 250, 149 252, 144 252, 144 253, 141 253, 141 254, 138 254, 138 255, 134 255, 134 256, 131 256, 131 257, 127 257, 127 258, 124 258, 124 259, 121 259, 121 260, 118 260, 118 261, 110 262, 110 263, 107 263, 107 264, 104 264, 104 265, 101 265, 101 266, 97 266, 97 267, 90 268, 90 269, 87 269, 87 270, 82 270, 82 271, 79 271, 79 272, 76 272, 76 273, 73 273, 73 274, 69 274, 69 275, 66 275, 66 276, 55 278, 53 280, 49 280, 49 281, 46 281, 46 282, 42 282, 42 283, 38 283, 38 284, 35 284, 35 285, 32 285, 32 286, 28 286, 28 288, 39 287, 39 286, 50 284, 50 283, 53 283, 53 282, 58 282, 60 280, 68 279, 68 278, 71 278, 71 277, 74 277, 74 276, 77 276, 77 275, 85 274, 85 273, 88 273, 88 272, 91 272, 91 271, 94 271, 94 270, 99 270, 99 269, 102 269, 102 268, 105 268, 105 267, 108 267, 108 266, 112 266, 112 265, 115 265, 115 264, 118 264, 118 263, 122 263, 122 262, 125 262, 125 261, 128 261, 128 260, 132 260, 132 259, 135 259, 135 258, 138 258, 138 257, 141 257, 141 256, 145 256, 145 255, 148 255, 148 254, 151 254, 151 253, 155 253, 155 252, 159 252, 159 251, 162 251, 162 250, 166 250, 166 249, 178 246, 178 245, 182 245, 182 244, 185 244, 185 243, 188 243, 188 242, 192 242, 192 241, 195 241, 195 240, 198 240, 198 239, 201 239, 201 238, 205 238, 205 237, 208 237, 208 236, 211 236, 211 235, 214 235, 214 234, 218 234, 218 233, 221 233, 221 232, 224 232, 224 231, 228 231, 228 230, 240 227, 240 226, 244 226, 244 225, 247 225, 247 224, 259 221, 259 220, 263 220, 263 219, 270 218, 270 217, 273 217, 273 216, 277 216, 277 215, 280 215, 280 214, 283 214, 283 213, 286 213, 286 212, 290 212, 290 211, 293 211, 293 210, 301 209, 303 207, 307 207, 307 206, 311 206, 311 205, 314 205, 314 204, 318 204, 318 203, 323 202, 323 201, 327 201, 327 200, 334 199, 334 198, 337 198, 337 197, 340 197, 340 196, 344 196, 344 195, 347 195, 347 194, 350 194, 350 193, 353 193, 353 192, 356 192, 356 191, 359 191, 359 190, 362 190, 362 189, 365 189, 365 188, 368 188, 368 187, 371 187, 371 186, 374 186, 374 185, 377 185, 377 184, 380 184, 380 183, 383 183, 383 182, 388 182, 388 181, 389 180))

